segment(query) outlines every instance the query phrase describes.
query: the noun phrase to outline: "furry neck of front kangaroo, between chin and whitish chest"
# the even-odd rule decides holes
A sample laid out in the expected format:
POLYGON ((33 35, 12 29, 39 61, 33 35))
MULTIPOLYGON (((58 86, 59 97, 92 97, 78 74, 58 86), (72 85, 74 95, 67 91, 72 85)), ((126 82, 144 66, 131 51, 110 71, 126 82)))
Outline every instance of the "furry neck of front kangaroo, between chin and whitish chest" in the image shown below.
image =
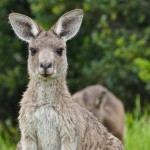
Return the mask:
POLYGON ((32 97, 32 105, 59 105, 70 100, 65 78, 53 80, 30 80, 27 93, 32 97), (32 94, 32 95, 31 95, 32 94))

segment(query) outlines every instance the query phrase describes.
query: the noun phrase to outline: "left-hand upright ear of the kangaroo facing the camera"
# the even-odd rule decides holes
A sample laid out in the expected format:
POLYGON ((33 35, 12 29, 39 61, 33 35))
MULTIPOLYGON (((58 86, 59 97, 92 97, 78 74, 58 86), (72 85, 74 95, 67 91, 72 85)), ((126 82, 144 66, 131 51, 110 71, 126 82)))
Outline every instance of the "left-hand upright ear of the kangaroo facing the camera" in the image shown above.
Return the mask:
POLYGON ((11 13, 9 21, 16 35, 23 41, 30 42, 40 32, 40 27, 28 16, 11 13))

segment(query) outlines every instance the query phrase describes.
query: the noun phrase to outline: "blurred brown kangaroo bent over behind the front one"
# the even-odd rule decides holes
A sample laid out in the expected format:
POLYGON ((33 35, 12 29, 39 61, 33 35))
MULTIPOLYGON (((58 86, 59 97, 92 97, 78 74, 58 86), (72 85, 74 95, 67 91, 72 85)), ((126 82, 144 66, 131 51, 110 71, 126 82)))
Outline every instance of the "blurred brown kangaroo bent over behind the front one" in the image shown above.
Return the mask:
POLYGON ((123 103, 102 85, 92 85, 72 95, 92 112, 108 131, 124 142, 125 111, 123 103))

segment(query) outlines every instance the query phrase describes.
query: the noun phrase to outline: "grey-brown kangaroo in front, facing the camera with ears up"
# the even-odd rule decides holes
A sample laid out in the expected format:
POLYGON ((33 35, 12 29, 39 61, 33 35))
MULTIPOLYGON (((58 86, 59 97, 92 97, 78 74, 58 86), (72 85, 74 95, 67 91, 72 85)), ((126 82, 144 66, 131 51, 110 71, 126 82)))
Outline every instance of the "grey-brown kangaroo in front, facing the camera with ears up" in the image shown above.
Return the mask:
POLYGON ((29 83, 19 112, 22 150, 123 150, 67 88, 66 42, 77 34, 82 18, 82 10, 69 11, 46 31, 28 16, 9 15, 16 35, 29 44, 29 83))

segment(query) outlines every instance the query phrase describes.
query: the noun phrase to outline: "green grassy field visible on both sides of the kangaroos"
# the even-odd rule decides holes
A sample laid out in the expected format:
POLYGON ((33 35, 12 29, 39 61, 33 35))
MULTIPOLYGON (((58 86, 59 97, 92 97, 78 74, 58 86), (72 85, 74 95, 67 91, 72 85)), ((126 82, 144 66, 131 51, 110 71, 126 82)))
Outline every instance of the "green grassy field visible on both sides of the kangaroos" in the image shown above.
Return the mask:
MULTIPOLYGON (((145 109, 141 113, 140 103, 134 112, 126 114, 125 149, 149 150, 150 149, 150 119, 145 109), (141 115, 142 114, 142 115, 141 115)), ((19 139, 18 131, 7 123, 9 128, 0 125, 0 150, 15 150, 19 139)))

